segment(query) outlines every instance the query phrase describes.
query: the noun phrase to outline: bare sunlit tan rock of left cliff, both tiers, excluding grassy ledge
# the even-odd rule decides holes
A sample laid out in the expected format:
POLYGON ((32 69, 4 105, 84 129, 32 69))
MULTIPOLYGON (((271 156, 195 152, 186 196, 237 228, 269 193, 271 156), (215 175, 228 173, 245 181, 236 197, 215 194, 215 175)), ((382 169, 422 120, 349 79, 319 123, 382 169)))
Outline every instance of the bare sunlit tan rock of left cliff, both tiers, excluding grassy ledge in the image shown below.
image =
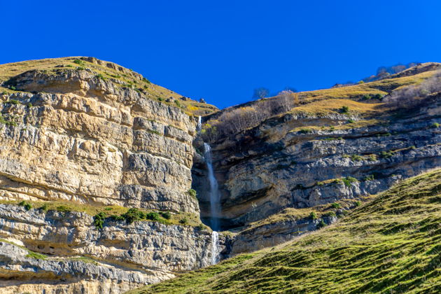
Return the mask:
POLYGON ((0 243, 1 292, 122 293, 210 265, 211 232, 185 219, 166 225, 106 218, 99 229, 85 212, 17 205, 199 217, 188 193, 195 119, 162 103, 159 90, 137 73, 97 59, 76 62, 104 64, 146 86, 103 78, 97 68, 69 67, 26 71, 3 84, 17 91, 0 96, 0 238, 9 241, 0 243))

